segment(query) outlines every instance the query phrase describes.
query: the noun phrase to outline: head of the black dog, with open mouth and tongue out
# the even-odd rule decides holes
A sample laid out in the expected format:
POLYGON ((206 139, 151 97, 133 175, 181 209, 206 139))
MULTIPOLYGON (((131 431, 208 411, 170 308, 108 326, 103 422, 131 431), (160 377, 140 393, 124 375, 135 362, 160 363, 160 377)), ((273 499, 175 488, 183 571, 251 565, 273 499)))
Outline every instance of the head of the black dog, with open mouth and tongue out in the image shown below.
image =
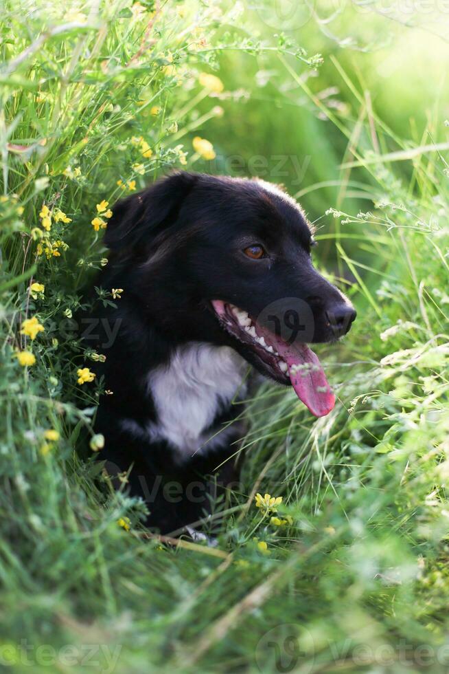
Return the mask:
POLYGON ((356 312, 314 268, 306 217, 279 188, 174 173, 118 202, 104 240, 124 297, 172 343, 231 346, 314 415, 333 408, 307 344, 343 336, 356 312))

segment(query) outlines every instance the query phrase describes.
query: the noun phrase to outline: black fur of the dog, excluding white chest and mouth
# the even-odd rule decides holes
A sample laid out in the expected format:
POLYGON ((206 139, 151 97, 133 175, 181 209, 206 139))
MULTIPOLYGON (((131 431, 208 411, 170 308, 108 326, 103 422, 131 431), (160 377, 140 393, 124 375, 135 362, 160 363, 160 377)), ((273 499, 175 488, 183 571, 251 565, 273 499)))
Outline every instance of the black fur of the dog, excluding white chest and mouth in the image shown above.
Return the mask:
MULTIPOLYGON (((98 285, 124 292, 117 308, 90 317, 95 330, 85 336, 106 355, 95 371, 113 391, 102 397, 97 413, 97 432, 106 437, 102 458, 111 472, 132 466, 130 491, 147 501, 148 525, 172 532, 207 510, 204 476, 235 453, 231 443, 239 429, 225 447, 184 464, 166 442, 136 439, 119 422, 127 418, 144 426, 157 420, 148 373, 167 363, 176 347, 199 341, 230 346, 273 376, 254 351, 222 329, 211 307, 214 299, 258 316, 281 298, 300 298, 313 315, 311 342, 344 334, 355 312, 314 269, 312 234, 299 206, 257 180, 174 173, 118 202, 104 241, 111 256, 98 285), (255 243, 264 246, 266 259, 255 261, 242 252, 255 243)), ((231 421, 235 413, 232 405, 218 410, 214 425, 231 421)), ((229 461, 218 481, 233 479, 229 461)))

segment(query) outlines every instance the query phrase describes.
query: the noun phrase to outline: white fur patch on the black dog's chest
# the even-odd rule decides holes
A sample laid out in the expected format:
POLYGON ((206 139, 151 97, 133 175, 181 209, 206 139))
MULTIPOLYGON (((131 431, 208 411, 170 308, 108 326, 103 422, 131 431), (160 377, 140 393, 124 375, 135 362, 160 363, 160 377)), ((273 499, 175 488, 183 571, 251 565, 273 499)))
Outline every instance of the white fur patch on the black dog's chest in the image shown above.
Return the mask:
MULTIPOLYGON (((246 393, 244 376, 248 365, 229 347, 214 347, 192 342, 173 354, 170 363, 148 374, 157 421, 139 435, 150 440, 165 440, 188 459, 222 446, 231 429, 225 426, 211 431, 214 418, 231 400, 246 393)), ((137 433, 137 424, 124 421, 128 431, 137 433)))

